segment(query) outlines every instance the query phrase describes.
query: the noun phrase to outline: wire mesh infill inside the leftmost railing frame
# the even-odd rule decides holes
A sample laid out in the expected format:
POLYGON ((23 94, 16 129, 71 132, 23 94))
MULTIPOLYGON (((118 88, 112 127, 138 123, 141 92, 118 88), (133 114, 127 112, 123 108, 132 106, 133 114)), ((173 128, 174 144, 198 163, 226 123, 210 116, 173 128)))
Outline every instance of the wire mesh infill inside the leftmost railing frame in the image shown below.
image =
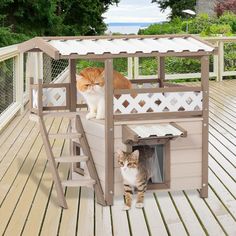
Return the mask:
POLYGON ((0 62, 0 115, 16 100, 15 58, 0 62))

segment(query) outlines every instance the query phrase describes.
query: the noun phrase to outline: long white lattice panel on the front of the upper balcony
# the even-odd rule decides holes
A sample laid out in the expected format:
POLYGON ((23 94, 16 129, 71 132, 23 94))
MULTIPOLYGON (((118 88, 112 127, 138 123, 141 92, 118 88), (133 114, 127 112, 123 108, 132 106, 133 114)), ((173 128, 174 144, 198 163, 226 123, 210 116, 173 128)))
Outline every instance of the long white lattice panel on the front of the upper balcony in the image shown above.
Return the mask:
POLYGON ((114 97, 114 112, 121 114, 202 110, 202 92, 122 94, 114 97))

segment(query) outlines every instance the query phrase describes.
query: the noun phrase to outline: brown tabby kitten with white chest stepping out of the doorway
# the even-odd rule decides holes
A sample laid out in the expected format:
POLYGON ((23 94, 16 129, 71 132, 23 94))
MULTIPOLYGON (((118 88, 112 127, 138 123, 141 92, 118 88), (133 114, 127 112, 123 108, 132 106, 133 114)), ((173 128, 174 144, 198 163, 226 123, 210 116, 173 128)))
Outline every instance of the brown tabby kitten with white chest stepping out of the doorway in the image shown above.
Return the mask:
POLYGON ((137 189, 136 208, 143 208, 144 193, 153 173, 153 150, 148 146, 137 146, 137 150, 129 153, 117 151, 118 163, 124 180, 125 206, 129 210, 132 203, 132 194, 137 189))

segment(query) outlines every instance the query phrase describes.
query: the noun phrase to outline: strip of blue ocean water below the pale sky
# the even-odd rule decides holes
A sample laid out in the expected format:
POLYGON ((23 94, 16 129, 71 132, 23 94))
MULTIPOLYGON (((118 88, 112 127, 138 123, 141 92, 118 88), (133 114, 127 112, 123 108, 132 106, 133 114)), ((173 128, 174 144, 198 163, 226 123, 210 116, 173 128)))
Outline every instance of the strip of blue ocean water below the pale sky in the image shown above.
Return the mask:
POLYGON ((147 28, 153 23, 109 23, 107 32, 121 34, 137 34, 140 28, 147 28))

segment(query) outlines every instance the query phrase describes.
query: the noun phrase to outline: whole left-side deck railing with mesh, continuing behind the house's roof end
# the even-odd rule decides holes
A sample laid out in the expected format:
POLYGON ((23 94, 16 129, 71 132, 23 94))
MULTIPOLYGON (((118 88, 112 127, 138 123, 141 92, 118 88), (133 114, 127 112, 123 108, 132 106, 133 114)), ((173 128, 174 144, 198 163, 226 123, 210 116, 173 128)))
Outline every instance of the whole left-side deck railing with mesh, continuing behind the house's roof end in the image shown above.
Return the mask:
POLYGON ((29 81, 60 83, 68 78, 68 60, 55 61, 46 54, 19 53, 17 45, 0 49, 0 132, 24 110, 29 101, 29 81))

